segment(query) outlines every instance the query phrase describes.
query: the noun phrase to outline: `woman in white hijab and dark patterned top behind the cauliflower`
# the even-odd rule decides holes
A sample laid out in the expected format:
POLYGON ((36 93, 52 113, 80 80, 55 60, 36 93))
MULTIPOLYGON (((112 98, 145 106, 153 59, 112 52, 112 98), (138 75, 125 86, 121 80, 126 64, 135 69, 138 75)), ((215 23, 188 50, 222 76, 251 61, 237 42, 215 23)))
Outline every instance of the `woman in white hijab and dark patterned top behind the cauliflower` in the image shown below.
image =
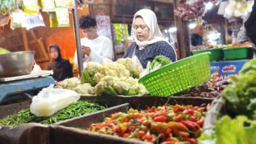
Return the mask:
POLYGON ((158 26, 156 14, 149 9, 141 9, 133 16, 133 31, 135 43, 128 49, 123 58, 137 56, 143 68, 148 61, 156 56, 166 56, 172 62, 177 60, 174 48, 165 40, 158 26))

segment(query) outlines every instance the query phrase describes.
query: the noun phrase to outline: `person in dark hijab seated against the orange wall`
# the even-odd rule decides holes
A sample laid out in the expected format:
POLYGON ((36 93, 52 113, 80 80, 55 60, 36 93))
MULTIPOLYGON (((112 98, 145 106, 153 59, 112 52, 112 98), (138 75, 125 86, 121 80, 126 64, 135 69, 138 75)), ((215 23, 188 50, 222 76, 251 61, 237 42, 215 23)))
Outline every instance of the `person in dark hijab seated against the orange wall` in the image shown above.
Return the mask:
POLYGON ((49 52, 53 61, 49 63, 48 70, 53 70, 53 79, 63 81, 73 77, 72 65, 69 60, 62 58, 58 45, 50 45, 49 52))

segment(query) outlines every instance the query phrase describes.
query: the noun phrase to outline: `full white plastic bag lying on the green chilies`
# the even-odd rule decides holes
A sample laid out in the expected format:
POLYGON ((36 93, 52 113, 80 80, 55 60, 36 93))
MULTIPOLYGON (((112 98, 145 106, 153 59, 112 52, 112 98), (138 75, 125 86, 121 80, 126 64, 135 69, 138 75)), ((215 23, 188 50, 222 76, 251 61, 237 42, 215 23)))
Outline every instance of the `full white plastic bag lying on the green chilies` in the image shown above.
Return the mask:
POLYGON ((53 84, 51 84, 33 97, 30 111, 37 117, 50 117, 79 98, 79 94, 73 90, 53 88, 53 84))

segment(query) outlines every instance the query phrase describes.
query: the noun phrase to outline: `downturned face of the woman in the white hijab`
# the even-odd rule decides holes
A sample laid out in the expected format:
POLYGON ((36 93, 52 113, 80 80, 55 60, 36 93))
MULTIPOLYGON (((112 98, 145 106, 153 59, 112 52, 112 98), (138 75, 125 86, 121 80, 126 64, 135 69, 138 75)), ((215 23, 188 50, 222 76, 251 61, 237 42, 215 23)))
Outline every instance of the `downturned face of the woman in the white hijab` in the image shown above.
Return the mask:
POLYGON ((134 29, 135 35, 139 41, 148 40, 150 29, 148 26, 146 26, 146 24, 142 18, 138 17, 135 19, 133 29, 134 29))

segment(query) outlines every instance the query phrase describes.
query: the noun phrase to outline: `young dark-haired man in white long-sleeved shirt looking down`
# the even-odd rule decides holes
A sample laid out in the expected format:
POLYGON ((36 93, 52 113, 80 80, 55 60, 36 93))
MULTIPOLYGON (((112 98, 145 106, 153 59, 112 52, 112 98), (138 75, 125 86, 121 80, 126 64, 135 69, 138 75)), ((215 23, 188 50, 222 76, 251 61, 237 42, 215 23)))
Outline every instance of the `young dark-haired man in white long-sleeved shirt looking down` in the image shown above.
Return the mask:
MULTIPOLYGON (((96 20, 93 16, 81 16, 79 27, 85 36, 81 39, 83 67, 86 67, 87 62, 104 63, 113 60, 112 42, 108 37, 97 34, 96 20)), ((78 67, 76 50, 74 64, 78 67)))

